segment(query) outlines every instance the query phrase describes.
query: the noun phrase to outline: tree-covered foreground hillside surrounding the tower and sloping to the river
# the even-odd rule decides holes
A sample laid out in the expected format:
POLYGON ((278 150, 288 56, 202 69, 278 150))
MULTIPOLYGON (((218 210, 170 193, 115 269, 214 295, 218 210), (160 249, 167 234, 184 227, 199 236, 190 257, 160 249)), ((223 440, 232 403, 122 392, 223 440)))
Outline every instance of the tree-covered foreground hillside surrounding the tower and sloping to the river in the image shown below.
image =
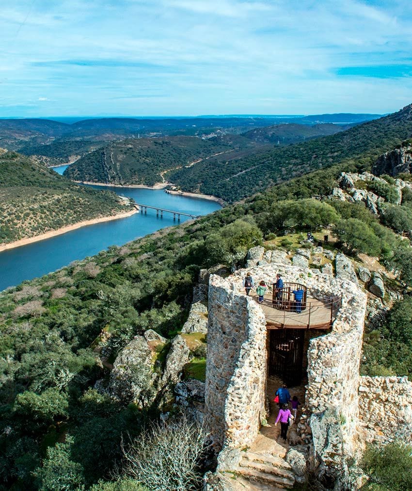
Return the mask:
MULTIPOLYGON (((368 170, 369 161, 365 154, 312 172, 243 204, 110 247, 1 293, 4 486, 141 489, 145 483, 127 480, 122 436, 143 435, 145 422, 155 419, 162 407, 122 404, 99 392, 95 387, 107 380, 110 369, 102 365, 96 348, 111 353, 110 361, 149 328, 171 339, 187 317, 201 268, 242 266, 247 250, 256 245, 293 249, 289 239, 305 236, 308 230, 328 227, 338 241, 331 247, 347 254, 376 255, 383 266, 398 272, 390 285, 399 300, 379 327, 366 327, 362 370, 411 377, 412 306, 403 296, 412 282, 409 241, 401 240, 362 204, 311 198, 328 196, 342 171, 368 170), (355 244, 348 244, 345 231, 356 233, 355 244), (274 243, 278 237, 281 241, 274 243), (110 482, 113 479, 117 483, 110 482)), ((374 190, 378 192, 376 186, 374 190)), ((397 206, 409 213, 408 203, 409 198, 397 206)), ((166 343, 157 367, 169 349, 166 343)), ((141 377, 136 373, 136 383, 143 383, 141 377)))

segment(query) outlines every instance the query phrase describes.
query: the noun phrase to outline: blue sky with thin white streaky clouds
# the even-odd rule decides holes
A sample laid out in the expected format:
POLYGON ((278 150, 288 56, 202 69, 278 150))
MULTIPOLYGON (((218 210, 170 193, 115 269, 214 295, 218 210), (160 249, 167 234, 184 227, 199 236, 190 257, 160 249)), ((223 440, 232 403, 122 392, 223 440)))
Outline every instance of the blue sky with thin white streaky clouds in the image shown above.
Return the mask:
POLYGON ((412 102, 412 2, 3 0, 0 117, 412 102))

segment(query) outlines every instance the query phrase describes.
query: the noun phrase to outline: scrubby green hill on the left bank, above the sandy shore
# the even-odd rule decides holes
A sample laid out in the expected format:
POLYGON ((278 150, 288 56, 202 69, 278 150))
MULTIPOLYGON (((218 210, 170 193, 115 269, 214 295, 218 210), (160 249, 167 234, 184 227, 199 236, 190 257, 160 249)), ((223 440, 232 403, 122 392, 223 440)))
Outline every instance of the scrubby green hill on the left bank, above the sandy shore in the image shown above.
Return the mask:
POLYGON ((0 153, 0 243, 128 211, 115 193, 87 189, 15 152, 0 153))

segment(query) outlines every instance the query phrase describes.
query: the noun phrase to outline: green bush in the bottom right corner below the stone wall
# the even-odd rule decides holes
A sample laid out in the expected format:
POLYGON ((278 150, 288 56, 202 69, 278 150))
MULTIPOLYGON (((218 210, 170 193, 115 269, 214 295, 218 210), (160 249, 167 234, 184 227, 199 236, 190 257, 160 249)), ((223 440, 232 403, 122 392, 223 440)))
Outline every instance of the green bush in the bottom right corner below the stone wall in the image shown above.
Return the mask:
POLYGON ((369 477, 365 490, 412 490, 412 447, 404 443, 369 446, 360 463, 369 477), (376 487, 376 485, 378 487, 376 487))

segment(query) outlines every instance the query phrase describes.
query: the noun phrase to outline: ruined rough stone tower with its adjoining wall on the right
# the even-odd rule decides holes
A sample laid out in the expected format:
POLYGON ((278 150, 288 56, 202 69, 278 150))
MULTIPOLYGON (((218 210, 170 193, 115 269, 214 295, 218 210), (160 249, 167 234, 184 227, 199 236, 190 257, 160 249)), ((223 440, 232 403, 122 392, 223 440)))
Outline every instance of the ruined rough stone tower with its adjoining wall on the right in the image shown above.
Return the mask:
POLYGON ((305 334, 308 382, 298 432, 325 468, 344 467, 347 458, 360 456, 367 442, 411 439, 412 383, 360 376, 366 294, 356 275, 337 278, 292 266, 282 254, 274 254, 274 262, 262 258, 262 251, 257 256, 261 259, 249 256, 247 270, 227 278, 211 274, 209 279, 205 423, 220 451, 218 470, 236 468, 238 451, 256 440, 268 417, 268 327, 260 305, 244 294, 247 271, 269 285, 281 273, 285 282, 306 285, 313 299, 342 295, 331 327, 305 334), (228 455, 229 464, 224 462, 228 455))

